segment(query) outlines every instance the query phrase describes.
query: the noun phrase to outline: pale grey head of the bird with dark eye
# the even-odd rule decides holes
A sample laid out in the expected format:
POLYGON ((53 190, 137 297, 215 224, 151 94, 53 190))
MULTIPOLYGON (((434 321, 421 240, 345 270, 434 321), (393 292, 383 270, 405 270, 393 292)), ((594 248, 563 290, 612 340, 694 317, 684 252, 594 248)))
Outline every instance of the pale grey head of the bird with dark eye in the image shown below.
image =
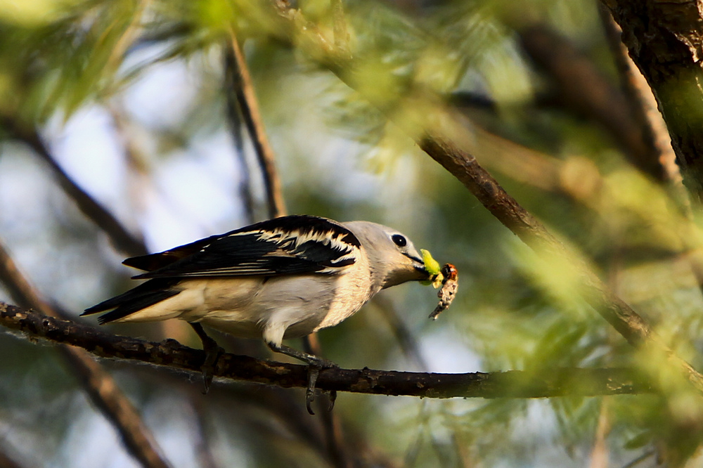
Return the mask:
POLYGON ((366 250, 371 280, 375 285, 386 288, 430 278, 422 256, 408 236, 368 221, 350 221, 344 226, 356 235, 366 250))

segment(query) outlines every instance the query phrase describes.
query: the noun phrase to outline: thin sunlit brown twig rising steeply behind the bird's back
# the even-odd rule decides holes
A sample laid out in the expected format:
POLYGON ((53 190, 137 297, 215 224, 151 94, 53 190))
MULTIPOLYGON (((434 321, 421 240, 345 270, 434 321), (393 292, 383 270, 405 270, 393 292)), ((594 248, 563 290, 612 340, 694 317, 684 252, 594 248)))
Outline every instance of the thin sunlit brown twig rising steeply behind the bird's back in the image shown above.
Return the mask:
POLYGON ((228 60, 227 73, 231 74, 231 86, 228 94, 233 90, 236 93, 239 110, 247 126, 247 131, 252 138, 257 160, 264 176, 266 201, 269 207, 269 217, 277 218, 285 215, 285 202, 280 177, 276 170, 276 157, 266 137, 264 122, 259 112, 256 93, 246 66, 246 60, 234 32, 231 32, 229 50, 232 60, 228 60))

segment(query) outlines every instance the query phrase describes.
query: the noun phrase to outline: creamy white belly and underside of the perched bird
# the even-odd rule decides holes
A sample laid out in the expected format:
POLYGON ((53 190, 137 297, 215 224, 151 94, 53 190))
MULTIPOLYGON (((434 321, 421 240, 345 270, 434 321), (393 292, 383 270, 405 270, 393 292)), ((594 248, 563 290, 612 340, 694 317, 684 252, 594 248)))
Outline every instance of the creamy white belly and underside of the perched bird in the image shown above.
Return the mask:
POLYGON ((116 321, 180 318, 280 346, 283 338, 337 325, 378 292, 371 290, 366 262, 359 263, 342 275, 187 279, 174 297, 116 321))

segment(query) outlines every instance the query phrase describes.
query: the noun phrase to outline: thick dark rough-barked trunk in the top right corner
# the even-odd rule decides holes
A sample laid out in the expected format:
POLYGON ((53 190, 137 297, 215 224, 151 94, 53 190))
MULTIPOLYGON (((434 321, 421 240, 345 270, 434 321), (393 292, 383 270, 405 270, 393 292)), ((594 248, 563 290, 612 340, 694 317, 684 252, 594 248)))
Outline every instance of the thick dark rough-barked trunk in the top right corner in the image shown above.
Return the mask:
POLYGON ((703 11, 699 1, 604 0, 654 91, 683 182, 703 201, 703 11))

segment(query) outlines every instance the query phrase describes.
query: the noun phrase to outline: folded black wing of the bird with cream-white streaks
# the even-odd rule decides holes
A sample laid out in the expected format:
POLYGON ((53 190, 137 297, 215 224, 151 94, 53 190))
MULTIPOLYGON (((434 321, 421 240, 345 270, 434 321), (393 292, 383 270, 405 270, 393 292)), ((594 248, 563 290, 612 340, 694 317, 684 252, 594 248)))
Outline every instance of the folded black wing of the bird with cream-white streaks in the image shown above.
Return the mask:
POLYGON ((134 278, 340 273, 356 262, 361 243, 340 223, 283 216, 175 249, 127 259, 147 270, 134 278))

